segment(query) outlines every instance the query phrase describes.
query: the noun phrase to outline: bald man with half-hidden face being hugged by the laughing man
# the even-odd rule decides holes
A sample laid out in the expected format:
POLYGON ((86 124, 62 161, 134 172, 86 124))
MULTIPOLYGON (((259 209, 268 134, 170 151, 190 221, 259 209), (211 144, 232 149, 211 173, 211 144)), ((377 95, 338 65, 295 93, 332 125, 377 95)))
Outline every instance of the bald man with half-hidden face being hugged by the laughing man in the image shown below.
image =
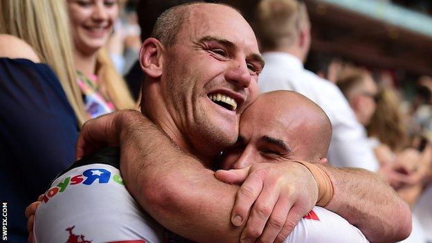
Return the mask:
MULTIPOLYGON (((249 165, 255 166, 251 170, 260 170, 281 159, 327 163, 331 136, 329 118, 312 100, 292 91, 262 93, 242 114, 237 142, 224 151, 220 163, 223 170, 215 176, 227 183, 242 183, 249 165)), ((256 200, 275 195, 273 190, 263 188, 256 200)), ((368 241, 341 216, 316 206, 285 242, 368 241)))

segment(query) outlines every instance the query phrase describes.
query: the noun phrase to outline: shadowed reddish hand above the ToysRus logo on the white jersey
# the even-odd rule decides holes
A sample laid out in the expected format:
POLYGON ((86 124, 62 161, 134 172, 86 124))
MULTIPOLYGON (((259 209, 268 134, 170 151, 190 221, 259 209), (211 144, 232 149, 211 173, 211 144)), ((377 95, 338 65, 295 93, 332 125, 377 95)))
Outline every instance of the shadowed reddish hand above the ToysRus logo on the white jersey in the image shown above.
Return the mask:
POLYGON ((127 123, 133 123, 136 118, 143 120, 143 114, 139 111, 124 110, 87 120, 78 137, 75 159, 81 159, 84 155, 104 147, 118 145, 123 127, 126 127, 127 123))

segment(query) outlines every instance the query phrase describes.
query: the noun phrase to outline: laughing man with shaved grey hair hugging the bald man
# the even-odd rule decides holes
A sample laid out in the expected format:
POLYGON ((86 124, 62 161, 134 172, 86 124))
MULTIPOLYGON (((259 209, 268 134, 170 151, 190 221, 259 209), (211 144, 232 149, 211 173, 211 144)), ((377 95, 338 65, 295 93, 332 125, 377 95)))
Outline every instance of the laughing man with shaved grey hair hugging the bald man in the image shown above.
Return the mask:
POLYGON ((317 182, 306 165, 288 159, 251 170, 248 178, 254 185, 267 188, 278 181, 272 198, 281 200, 274 208, 274 200, 253 204, 246 198, 248 181, 242 188, 218 181, 209 168, 224 148, 235 143, 240 114, 258 96, 263 63, 255 35, 233 8, 194 3, 161 15, 152 36, 140 55, 147 75, 141 111, 152 122, 134 111, 102 116, 83 127, 78 144, 82 154, 91 150, 88 143, 82 146, 88 138, 120 142, 120 171, 127 190, 112 150, 78 161, 53 183, 39 206, 37 240, 54 239, 46 234, 55 232, 57 241, 52 242, 60 242, 66 229, 75 226, 75 234, 96 242, 157 242, 161 233, 154 228, 156 219, 195 242, 253 242, 260 235, 264 242, 282 242, 318 201, 377 239, 400 239, 410 231, 406 204, 363 170, 308 165, 325 174, 331 188, 317 182), (374 187, 363 184, 366 180, 374 187), (331 197, 321 201, 323 195, 331 197), (386 217, 390 214, 400 218, 396 225, 386 217), (84 215, 89 220, 82 221, 84 215))

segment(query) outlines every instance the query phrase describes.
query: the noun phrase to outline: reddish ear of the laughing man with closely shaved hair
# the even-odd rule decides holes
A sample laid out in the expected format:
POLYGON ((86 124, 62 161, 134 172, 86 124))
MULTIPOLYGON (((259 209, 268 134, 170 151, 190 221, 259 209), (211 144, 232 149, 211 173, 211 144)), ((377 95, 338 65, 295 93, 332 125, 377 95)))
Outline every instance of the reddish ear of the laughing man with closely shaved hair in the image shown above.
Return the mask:
POLYGON ((141 69, 151 78, 159 78, 163 69, 165 48, 158 39, 147 38, 141 46, 139 61, 141 69))

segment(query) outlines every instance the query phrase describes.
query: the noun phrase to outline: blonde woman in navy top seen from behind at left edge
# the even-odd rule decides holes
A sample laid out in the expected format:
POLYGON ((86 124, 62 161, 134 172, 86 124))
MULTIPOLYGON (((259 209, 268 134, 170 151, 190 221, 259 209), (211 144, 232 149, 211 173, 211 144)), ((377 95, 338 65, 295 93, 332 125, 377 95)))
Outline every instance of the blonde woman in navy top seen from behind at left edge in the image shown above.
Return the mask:
POLYGON ((8 241, 27 242, 24 209, 73 161, 87 116, 65 2, 0 1, 0 12, 1 199, 8 241))

